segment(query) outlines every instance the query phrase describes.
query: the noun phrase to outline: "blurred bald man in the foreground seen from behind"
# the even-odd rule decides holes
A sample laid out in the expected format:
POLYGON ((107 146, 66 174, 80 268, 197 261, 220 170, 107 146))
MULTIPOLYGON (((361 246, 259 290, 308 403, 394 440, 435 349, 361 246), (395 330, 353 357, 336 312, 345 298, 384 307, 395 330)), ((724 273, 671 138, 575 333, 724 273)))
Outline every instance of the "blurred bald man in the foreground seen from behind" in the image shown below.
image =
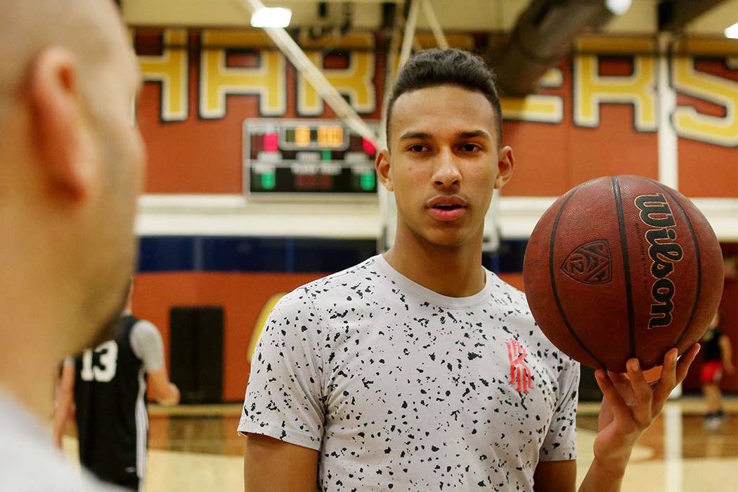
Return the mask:
POLYGON ((0 0, 0 490, 107 490, 44 432, 135 262, 137 60, 112 1, 0 0))

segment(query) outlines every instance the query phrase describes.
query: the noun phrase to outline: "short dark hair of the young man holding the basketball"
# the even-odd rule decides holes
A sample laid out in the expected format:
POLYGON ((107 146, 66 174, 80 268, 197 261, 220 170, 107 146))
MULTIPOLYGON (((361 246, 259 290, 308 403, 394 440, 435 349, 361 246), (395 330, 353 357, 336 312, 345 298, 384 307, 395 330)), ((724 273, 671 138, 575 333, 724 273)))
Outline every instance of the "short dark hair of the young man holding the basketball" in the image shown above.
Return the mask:
POLYGON ((390 118, 398 97, 406 92, 437 86, 458 86, 481 92, 492 105, 497 125, 497 145, 503 141, 503 110, 494 83, 494 72, 484 60, 463 49, 425 49, 413 55, 402 67, 387 105, 387 145, 390 143, 390 118))

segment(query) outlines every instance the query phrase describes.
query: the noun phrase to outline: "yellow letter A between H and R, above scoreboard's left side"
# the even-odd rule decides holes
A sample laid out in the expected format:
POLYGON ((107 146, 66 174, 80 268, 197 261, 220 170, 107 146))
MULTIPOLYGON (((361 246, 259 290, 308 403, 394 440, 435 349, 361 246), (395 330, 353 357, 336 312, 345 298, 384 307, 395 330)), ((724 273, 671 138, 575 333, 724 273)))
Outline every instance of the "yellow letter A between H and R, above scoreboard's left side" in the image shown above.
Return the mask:
POLYGON ((226 114, 226 96, 259 96, 263 116, 283 116, 286 112, 285 58, 271 46, 261 31, 205 30, 202 32, 200 60, 200 116, 222 118, 226 114), (259 66, 229 67, 227 49, 261 48, 259 66))

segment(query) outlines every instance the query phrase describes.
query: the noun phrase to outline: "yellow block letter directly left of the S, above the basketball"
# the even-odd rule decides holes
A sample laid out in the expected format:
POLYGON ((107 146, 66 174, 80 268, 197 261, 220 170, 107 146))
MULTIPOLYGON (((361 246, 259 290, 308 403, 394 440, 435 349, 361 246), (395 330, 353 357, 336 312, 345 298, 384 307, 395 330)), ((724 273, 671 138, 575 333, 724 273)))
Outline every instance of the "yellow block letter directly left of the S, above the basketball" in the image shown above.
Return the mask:
POLYGON ((633 105, 633 125, 638 131, 655 131, 658 120, 653 49, 653 41, 644 38, 584 38, 579 41, 582 53, 574 56, 573 71, 576 125, 595 128, 599 125, 601 103, 621 103, 633 105), (632 56, 632 75, 599 75, 599 56, 591 53, 632 56))

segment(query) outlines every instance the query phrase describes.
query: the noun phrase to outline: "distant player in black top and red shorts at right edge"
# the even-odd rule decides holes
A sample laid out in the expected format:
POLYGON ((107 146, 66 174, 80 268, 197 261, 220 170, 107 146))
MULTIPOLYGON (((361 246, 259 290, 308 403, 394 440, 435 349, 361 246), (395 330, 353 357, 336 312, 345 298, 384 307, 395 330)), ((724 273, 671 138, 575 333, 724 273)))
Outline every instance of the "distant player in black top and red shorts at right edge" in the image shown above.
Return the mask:
POLYGON ((707 415, 703 422, 706 429, 717 429, 725 420, 723 411, 723 392, 720 391, 720 379, 723 370, 730 375, 735 374, 733 365, 733 348, 731 339, 720 330, 720 311, 715 313, 710 328, 700 341, 703 347, 703 364, 700 371, 702 392, 707 401, 707 415))

